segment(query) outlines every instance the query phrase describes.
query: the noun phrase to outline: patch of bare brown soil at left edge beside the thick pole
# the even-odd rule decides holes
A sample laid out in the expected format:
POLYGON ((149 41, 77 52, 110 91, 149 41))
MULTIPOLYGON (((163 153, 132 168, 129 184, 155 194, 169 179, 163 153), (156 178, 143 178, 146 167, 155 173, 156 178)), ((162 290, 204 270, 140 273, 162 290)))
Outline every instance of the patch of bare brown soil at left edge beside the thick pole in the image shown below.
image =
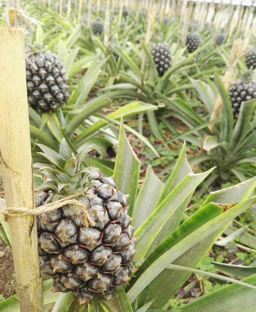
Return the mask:
POLYGON ((12 251, 0 239, 0 295, 10 297, 14 292, 14 263, 12 251))

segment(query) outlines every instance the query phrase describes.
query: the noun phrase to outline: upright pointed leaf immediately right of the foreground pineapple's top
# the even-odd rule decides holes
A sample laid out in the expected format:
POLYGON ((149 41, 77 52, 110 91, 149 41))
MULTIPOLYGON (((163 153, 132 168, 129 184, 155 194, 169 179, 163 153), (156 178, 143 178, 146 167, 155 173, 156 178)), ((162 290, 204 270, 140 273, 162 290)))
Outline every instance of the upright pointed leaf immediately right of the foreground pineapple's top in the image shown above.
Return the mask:
POLYGON ((125 131, 123 129, 123 120, 121 118, 118 149, 114 168, 114 180, 118 186, 118 189, 122 193, 130 195, 128 198, 130 216, 133 215, 140 166, 141 162, 133 152, 133 149, 126 137, 125 131))

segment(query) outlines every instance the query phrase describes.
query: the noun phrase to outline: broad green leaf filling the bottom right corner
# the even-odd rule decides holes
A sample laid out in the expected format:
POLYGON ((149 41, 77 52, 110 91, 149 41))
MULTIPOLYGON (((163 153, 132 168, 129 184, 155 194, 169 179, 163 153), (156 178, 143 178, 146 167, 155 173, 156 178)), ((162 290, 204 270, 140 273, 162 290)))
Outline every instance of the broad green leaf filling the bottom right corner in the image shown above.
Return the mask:
MULTIPOLYGON (((256 274, 242 280, 244 283, 256 285, 256 274)), ((232 312, 254 312, 256 306, 254 289, 233 284, 215 290, 180 307, 182 312, 222 312, 227 308, 232 312)))

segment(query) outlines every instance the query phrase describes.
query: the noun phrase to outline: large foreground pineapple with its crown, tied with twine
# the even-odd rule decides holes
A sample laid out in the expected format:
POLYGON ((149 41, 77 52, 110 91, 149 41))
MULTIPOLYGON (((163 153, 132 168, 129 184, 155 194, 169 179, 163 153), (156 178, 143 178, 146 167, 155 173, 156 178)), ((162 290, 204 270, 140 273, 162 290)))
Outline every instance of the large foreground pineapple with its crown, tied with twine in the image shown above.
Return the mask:
POLYGON ((126 284, 136 271, 128 195, 117 189, 112 177, 102 177, 96 168, 82 168, 88 148, 74 156, 65 139, 59 154, 38 145, 52 164, 36 165, 46 176, 36 206, 74 194, 93 221, 85 226, 78 206, 38 216, 40 270, 52 276, 53 291, 72 291, 80 304, 95 296, 109 298, 114 287, 126 284))

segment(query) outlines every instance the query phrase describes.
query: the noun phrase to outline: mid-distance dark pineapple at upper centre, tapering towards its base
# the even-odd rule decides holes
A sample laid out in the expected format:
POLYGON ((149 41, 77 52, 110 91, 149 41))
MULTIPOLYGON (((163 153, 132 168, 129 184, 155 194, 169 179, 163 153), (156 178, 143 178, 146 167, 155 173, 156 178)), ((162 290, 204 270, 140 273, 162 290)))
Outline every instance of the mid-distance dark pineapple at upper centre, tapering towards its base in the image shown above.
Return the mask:
POLYGON ((170 46, 166 43, 154 43, 150 46, 150 51, 156 64, 159 76, 163 76, 165 71, 171 66, 172 55, 170 46))

